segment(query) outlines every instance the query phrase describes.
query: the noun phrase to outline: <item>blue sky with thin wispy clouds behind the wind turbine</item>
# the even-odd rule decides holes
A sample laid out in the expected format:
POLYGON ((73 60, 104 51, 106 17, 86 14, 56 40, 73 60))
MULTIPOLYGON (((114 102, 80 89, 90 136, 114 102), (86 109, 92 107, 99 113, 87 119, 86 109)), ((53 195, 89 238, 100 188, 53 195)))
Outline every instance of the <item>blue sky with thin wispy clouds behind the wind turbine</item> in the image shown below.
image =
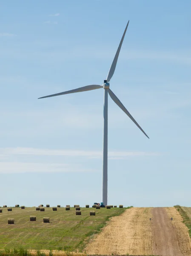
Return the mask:
POLYGON ((109 98, 108 204, 191 206, 191 2, 0 3, 0 206, 102 198, 103 84, 126 23, 109 98))

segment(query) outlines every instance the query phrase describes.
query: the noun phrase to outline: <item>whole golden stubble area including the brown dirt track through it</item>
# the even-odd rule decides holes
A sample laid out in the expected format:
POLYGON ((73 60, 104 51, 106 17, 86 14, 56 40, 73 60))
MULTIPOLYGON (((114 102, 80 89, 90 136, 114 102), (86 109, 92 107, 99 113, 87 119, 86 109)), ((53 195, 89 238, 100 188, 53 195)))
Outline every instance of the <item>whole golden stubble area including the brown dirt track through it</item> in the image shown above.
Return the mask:
POLYGON ((127 209, 111 218, 85 250, 102 255, 191 256, 188 230, 181 221, 174 207, 127 209))

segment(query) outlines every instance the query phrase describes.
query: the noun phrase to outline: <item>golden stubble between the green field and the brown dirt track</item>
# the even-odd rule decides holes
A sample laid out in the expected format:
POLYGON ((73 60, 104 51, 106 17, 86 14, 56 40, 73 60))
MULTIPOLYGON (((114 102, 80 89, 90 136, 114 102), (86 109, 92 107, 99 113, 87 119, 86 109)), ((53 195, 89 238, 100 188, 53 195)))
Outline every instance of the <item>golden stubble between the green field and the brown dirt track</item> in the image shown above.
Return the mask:
MULTIPOLYGON (((111 208, 116 209, 116 208, 111 208)), ((130 208, 111 218, 103 232, 86 246, 88 254, 152 254, 151 208, 130 208)))

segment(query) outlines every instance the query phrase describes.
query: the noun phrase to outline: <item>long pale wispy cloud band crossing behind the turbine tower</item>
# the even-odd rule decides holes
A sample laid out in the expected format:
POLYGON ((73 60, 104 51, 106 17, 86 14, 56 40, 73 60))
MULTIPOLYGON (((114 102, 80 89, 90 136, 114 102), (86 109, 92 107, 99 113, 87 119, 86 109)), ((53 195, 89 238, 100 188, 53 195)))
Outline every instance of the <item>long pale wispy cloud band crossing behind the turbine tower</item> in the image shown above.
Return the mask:
MULTIPOLYGON (((110 151, 108 159, 124 160, 128 157, 158 156, 155 152, 110 151)), ((0 173, 31 172, 99 172, 87 167, 88 159, 102 159, 102 151, 57 150, 47 148, 0 148, 0 173), (58 158, 61 156, 60 158, 58 158), (68 158, 69 157, 69 158, 68 158), (75 157, 75 163, 73 158, 75 157), (61 162, 60 162, 61 161, 61 162), (83 163, 83 164, 82 164, 83 163)))

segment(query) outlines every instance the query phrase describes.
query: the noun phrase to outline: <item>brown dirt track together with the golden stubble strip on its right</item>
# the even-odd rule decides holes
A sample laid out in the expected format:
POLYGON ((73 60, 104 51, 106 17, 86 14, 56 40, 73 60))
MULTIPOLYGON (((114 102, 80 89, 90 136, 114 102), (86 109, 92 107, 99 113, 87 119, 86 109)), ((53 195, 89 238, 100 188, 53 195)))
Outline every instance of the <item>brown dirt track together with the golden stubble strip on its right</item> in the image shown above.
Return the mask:
POLYGON ((152 209, 153 254, 191 255, 191 241, 180 214, 174 207, 152 209), (171 221, 171 218, 173 220, 171 221))

